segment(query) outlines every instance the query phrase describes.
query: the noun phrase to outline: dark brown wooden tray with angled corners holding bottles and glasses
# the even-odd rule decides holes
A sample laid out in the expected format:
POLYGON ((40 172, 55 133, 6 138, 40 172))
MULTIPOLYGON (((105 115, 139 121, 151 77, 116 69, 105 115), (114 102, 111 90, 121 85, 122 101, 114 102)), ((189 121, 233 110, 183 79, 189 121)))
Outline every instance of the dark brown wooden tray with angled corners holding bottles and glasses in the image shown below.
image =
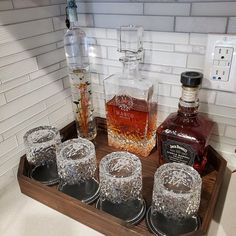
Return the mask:
MULTIPOLYGON (((106 121, 97 118, 98 135, 95 140, 96 155, 98 162, 106 154, 117 151, 107 145, 106 121)), ((67 125, 61 130, 63 141, 76 137, 75 123, 67 125)), ((203 191, 199 216, 202 224, 195 233, 205 234, 208 230, 213 211, 217 202, 217 196, 223 180, 226 161, 212 148, 208 147, 208 168, 204 174, 203 191)), ((153 150, 148 158, 140 158, 143 165, 143 196, 147 207, 151 204, 153 176, 158 167, 158 154, 153 150)), ((25 156, 21 157, 18 169, 18 182, 21 192, 38 200, 39 202, 105 234, 105 235, 151 235, 145 220, 139 225, 133 226, 95 208, 94 205, 86 205, 81 201, 59 192, 55 186, 45 186, 28 177, 29 164, 25 156)))

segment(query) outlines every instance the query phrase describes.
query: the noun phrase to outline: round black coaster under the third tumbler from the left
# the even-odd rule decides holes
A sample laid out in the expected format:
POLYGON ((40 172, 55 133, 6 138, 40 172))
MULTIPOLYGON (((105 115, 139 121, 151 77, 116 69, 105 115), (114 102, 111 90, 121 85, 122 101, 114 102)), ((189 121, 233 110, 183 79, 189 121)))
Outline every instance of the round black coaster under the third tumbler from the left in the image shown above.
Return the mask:
MULTIPOLYGON (((100 200, 97 201, 96 208, 100 209, 100 200)), ((136 225, 145 216, 146 202, 145 200, 141 202, 139 200, 132 200, 125 203, 114 204, 110 201, 104 201, 102 210, 127 223, 136 225)))

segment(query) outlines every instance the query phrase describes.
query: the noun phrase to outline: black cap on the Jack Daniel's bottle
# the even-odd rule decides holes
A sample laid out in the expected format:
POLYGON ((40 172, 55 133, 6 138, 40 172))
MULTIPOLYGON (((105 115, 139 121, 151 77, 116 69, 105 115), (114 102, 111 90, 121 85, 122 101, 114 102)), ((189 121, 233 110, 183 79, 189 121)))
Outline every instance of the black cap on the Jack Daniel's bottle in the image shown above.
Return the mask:
POLYGON ((180 82, 183 86, 196 87, 201 84, 203 74, 196 71, 186 71, 181 74, 180 82))

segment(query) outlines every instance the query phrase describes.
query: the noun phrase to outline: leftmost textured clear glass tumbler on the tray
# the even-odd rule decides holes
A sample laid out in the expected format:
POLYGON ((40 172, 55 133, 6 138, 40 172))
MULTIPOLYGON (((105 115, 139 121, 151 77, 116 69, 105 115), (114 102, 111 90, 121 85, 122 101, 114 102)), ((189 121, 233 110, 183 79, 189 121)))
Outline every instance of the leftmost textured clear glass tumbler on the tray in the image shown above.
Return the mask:
POLYGON ((23 137, 26 158, 34 166, 56 163, 56 147, 61 143, 59 131, 52 126, 39 126, 23 137))

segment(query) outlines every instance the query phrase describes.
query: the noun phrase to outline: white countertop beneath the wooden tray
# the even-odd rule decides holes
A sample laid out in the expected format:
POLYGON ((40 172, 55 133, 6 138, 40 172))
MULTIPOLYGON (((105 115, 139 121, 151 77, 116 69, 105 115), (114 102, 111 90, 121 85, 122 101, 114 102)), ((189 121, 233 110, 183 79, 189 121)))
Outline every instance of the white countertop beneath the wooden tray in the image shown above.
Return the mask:
MULTIPOLYGON (((232 169, 232 168, 231 168, 232 169)), ((236 173, 227 168, 208 235, 236 232, 236 173)), ((15 178, 0 190, 1 236, 100 236, 95 230, 22 194, 15 178)))

